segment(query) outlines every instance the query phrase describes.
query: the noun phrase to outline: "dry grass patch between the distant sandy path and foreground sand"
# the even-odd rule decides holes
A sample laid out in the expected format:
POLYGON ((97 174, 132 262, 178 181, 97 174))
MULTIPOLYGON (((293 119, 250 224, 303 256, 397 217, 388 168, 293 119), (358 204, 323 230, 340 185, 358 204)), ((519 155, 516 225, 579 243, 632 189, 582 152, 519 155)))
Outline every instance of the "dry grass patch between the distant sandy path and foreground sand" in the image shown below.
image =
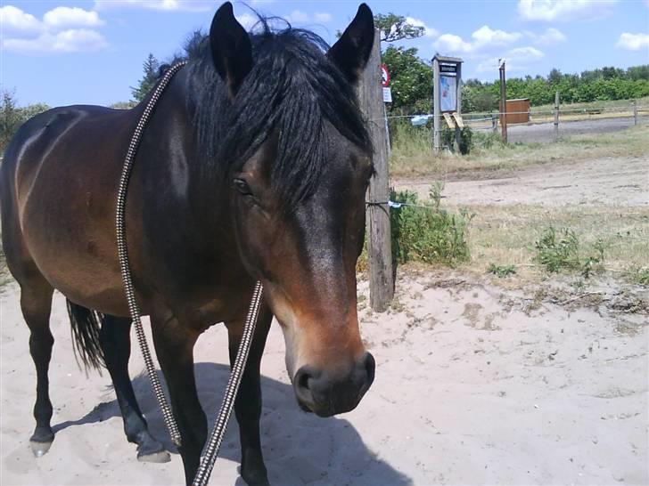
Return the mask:
MULTIPOLYGON (((512 265, 522 279, 537 280, 546 274, 546 264, 536 262, 538 248, 546 229, 570 228, 577 239, 576 251, 570 238, 555 231, 554 245, 546 239, 547 258, 561 259, 563 270, 591 271, 604 268, 628 275, 640 283, 649 273, 649 210, 634 207, 543 207, 540 205, 472 205, 475 213, 469 227, 468 242, 472 255, 469 265, 483 272, 485 262, 495 266, 512 265), (561 239, 567 243, 560 245, 561 239), (549 256, 550 248, 555 251, 549 256), (604 254, 604 262, 601 260, 604 254), (646 269, 645 273, 637 269, 646 269), (541 271, 541 273, 539 273, 541 271)), ((550 260, 552 261, 552 260, 550 260)))

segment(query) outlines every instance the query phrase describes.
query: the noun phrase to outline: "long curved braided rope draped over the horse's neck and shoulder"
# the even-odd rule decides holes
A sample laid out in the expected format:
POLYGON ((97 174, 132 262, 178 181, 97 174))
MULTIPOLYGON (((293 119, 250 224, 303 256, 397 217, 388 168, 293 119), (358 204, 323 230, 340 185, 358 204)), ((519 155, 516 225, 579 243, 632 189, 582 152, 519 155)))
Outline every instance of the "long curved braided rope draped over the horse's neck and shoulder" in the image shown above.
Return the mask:
POLYGON ((153 393, 155 393, 155 397, 160 404, 162 417, 164 417, 165 425, 167 425, 171 440, 178 447, 180 446, 181 442, 180 432, 178 432, 178 426, 176 425, 174 416, 171 413, 171 409, 169 409, 167 398, 165 397, 165 393, 162 391, 160 380, 158 379, 158 375, 155 372, 155 367, 153 366, 153 360, 151 357, 151 351, 149 350, 149 345, 146 343, 146 336, 144 336, 144 329, 142 328, 142 321, 140 320, 140 309, 137 306, 136 292, 133 288, 133 279, 131 276, 130 265, 128 263, 126 220, 124 213, 127 200, 128 180, 133 169, 133 160, 136 158, 137 147, 142 140, 144 127, 148 123, 149 118, 151 118, 153 109, 155 109, 155 105, 158 100, 160 100, 160 96, 164 92, 169 81, 183 66, 185 66, 185 62, 180 62, 167 70, 162 79, 160 79, 160 83, 158 83, 158 85, 156 85, 153 89, 151 99, 148 103, 146 103, 142 117, 140 117, 140 120, 137 122, 136 130, 131 137, 131 142, 128 144, 127 156, 126 158, 124 158, 124 166, 122 168, 121 177, 119 179, 117 212, 115 216, 119 267, 121 268, 122 281, 124 283, 124 292, 127 296, 128 311, 131 314, 133 323, 136 325, 137 342, 140 344, 140 350, 142 351, 144 364, 146 365, 146 373, 151 379, 153 393))

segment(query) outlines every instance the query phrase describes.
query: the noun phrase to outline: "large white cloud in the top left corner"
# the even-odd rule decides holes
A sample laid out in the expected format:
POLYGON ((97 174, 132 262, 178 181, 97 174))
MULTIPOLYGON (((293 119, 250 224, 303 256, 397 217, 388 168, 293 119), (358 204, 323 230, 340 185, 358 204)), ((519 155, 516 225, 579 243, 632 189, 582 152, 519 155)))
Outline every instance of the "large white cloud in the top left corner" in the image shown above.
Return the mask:
POLYGON ((0 8, 3 36, 0 49, 21 53, 78 53, 98 51, 108 45, 102 34, 88 27, 99 27, 97 12, 75 7, 56 7, 45 12, 43 20, 12 5, 0 8))

